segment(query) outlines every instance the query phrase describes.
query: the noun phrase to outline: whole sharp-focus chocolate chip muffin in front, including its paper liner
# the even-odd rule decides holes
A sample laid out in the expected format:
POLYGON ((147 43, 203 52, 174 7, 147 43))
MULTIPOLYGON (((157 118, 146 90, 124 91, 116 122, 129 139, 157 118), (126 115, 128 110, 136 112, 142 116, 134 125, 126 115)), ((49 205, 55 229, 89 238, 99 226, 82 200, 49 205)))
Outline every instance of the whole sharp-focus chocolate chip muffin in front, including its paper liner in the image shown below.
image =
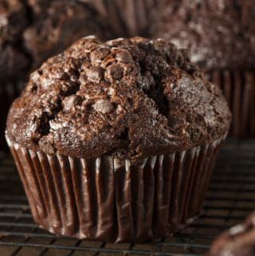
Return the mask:
POLYGON ((6 138, 36 223, 135 242, 198 215, 230 120, 185 50, 84 37, 31 74, 6 138))

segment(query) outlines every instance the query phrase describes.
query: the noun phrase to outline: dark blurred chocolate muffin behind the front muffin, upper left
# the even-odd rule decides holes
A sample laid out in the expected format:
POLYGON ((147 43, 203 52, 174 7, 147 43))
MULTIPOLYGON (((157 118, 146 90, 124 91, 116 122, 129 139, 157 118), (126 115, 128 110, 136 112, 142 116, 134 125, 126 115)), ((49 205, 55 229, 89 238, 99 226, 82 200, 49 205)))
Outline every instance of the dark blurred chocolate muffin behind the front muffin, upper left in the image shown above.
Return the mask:
POLYGON ((0 1, 0 148, 8 108, 28 73, 84 35, 110 37, 106 24, 96 10, 73 0, 0 1))

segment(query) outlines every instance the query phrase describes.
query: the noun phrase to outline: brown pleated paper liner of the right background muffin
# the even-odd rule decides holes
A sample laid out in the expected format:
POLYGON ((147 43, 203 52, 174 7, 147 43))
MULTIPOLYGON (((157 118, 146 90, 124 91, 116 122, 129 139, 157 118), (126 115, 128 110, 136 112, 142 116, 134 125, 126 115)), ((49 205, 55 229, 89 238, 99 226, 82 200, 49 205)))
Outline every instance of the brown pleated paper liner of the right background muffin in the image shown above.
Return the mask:
POLYGON ((255 137, 255 71, 211 71, 230 106, 233 122, 230 136, 255 137))

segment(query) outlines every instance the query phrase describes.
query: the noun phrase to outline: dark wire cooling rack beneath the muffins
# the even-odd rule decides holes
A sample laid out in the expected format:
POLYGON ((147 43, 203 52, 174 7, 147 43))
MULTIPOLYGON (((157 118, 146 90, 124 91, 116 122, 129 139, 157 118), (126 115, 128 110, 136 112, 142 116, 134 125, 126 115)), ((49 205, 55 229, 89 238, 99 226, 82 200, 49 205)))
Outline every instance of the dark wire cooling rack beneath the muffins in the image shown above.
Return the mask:
POLYGON ((0 153, 1 256, 202 255, 222 230, 255 209, 255 140, 228 140, 219 156, 203 214, 159 242, 108 244, 57 238, 33 223, 10 156, 0 153))

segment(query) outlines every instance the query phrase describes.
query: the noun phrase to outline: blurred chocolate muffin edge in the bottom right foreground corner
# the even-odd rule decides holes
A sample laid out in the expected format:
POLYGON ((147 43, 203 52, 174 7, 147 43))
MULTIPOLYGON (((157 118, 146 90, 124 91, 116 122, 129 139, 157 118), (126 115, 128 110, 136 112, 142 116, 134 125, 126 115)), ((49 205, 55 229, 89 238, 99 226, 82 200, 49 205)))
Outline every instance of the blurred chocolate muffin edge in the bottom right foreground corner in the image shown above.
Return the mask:
POLYGON ((210 248, 208 256, 252 256, 255 253, 255 213, 245 223, 233 226, 221 234, 210 248))

